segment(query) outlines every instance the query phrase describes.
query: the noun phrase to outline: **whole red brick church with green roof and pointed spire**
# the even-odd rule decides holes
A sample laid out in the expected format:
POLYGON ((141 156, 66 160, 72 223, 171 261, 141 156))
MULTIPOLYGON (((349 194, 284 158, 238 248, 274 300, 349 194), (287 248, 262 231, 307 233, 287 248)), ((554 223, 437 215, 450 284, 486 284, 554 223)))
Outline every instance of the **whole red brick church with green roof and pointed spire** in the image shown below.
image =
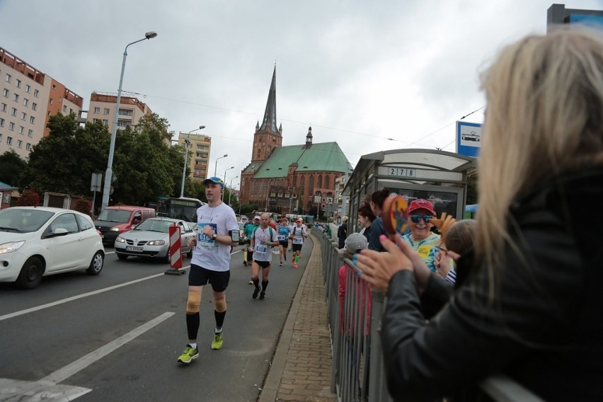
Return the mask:
POLYGON ((276 67, 262 124, 255 125, 251 163, 241 171, 241 203, 281 214, 321 215, 335 211, 335 179, 350 163, 337 142, 282 146, 276 119, 276 67))

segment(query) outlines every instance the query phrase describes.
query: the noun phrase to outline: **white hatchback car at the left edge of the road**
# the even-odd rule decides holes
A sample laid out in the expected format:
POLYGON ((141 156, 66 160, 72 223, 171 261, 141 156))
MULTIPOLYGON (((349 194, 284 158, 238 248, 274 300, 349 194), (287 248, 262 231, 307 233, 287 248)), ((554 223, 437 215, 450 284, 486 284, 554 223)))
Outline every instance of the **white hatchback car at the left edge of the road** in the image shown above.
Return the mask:
POLYGON ((42 276, 103 270, 103 239, 86 214, 50 207, 0 210, 0 282, 33 289, 42 276))

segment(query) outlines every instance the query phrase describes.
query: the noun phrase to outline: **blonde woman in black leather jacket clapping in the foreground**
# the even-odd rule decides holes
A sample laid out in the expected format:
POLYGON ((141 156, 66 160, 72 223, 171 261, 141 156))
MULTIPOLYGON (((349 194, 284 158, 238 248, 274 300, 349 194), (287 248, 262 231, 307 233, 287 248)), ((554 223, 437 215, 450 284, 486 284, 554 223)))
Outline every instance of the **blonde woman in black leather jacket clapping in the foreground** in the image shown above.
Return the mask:
POLYGON ((399 237, 357 257, 389 296, 389 391, 476 400, 503 374, 545 401, 603 401, 603 33, 529 35, 482 85, 476 248, 458 261, 469 277, 427 321, 421 302, 449 287, 399 237))

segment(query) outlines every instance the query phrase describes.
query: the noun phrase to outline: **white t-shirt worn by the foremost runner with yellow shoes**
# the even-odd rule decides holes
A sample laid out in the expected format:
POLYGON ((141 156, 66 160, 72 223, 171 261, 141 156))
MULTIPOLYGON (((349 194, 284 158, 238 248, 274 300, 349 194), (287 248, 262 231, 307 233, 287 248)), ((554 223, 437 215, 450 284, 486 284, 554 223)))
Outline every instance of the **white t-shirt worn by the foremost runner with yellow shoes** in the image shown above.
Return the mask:
POLYGON ((197 247, 193 250, 191 264, 212 271, 230 269, 230 246, 218 243, 203 234, 205 225, 212 226, 218 235, 229 235, 231 230, 239 230, 234 210, 221 202, 217 207, 203 205, 197 209, 197 247))

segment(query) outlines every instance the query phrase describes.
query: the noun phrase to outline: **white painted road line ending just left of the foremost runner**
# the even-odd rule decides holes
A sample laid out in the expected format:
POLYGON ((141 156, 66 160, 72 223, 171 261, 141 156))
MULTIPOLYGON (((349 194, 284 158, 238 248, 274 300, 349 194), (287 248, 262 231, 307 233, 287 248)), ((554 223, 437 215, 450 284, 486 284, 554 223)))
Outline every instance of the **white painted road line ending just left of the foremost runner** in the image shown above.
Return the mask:
MULTIPOLYGON (((161 274, 161 275, 163 275, 163 274, 161 274)), ((97 360, 101 360, 101 358, 105 357, 110 352, 113 352, 113 350, 116 350, 117 348, 120 348, 121 346, 130 342, 130 340, 136 338, 138 335, 142 335, 142 333, 149 331, 149 329, 153 328, 154 326, 158 325, 159 323, 166 321, 166 319, 170 318, 174 314, 176 314, 176 313, 172 313, 169 311, 166 313, 163 313, 163 314, 161 314, 161 316, 158 316, 157 318, 152 319, 148 323, 145 323, 142 326, 139 326, 138 328, 133 329, 129 333, 126 333, 125 335, 120 336, 119 338, 111 341, 107 345, 101 346, 101 348, 98 348, 97 350, 94 350, 93 352, 88 353, 88 355, 81 357, 81 359, 78 359, 71 364, 67 364, 67 366, 63 367, 62 369, 58 369, 56 372, 47 375, 40 381, 50 381, 54 384, 59 384, 59 382, 64 381, 65 379, 68 379, 72 375, 76 374, 76 372, 79 372, 80 370, 85 369, 86 367, 88 367, 90 364, 96 362, 97 360)))

